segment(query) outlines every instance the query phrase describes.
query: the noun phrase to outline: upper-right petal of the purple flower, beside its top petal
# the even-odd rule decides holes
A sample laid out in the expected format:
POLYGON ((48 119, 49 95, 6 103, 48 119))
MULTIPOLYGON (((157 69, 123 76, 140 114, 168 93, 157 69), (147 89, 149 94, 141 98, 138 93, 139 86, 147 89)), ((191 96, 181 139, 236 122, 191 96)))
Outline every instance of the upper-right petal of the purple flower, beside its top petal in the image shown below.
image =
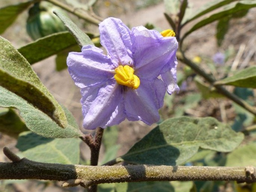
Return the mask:
POLYGON ((158 31, 142 26, 132 28, 132 43, 135 71, 140 78, 158 77, 178 49, 175 37, 163 37, 158 31))

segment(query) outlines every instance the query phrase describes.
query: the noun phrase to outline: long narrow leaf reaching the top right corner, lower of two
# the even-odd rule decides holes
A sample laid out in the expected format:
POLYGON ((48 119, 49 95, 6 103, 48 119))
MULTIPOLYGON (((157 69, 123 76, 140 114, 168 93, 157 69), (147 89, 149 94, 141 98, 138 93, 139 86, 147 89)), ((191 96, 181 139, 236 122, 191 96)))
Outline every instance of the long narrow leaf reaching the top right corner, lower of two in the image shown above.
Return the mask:
POLYGON ((252 7, 256 6, 255 0, 241 0, 232 4, 229 4, 227 6, 223 6, 223 9, 219 11, 218 13, 215 13, 201 21, 199 21, 197 24, 195 24, 190 30, 188 30, 182 37, 184 39, 186 36, 191 34, 191 32, 204 27, 207 24, 210 24, 214 21, 217 21, 219 19, 222 19, 226 16, 232 16, 236 12, 240 12, 243 10, 248 10, 252 7))

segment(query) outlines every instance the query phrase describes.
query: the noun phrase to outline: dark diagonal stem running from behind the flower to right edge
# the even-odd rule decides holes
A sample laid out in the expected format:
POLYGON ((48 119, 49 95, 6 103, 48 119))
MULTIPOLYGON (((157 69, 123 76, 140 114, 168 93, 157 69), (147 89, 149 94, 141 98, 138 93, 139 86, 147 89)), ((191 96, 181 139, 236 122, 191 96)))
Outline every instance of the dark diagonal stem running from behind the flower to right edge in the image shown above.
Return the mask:
POLYGON ((221 93, 222 95, 228 97, 229 99, 231 99, 232 101, 234 101, 235 103, 237 103, 238 105, 240 105, 241 107, 246 109, 247 111, 251 112, 252 114, 256 115, 256 109, 255 108, 253 108, 251 105, 249 105, 247 102, 245 102, 244 100, 240 99, 236 95, 230 93, 223 86, 214 85, 216 80, 215 80, 215 78, 212 75, 207 74, 203 69, 200 68, 200 66, 198 66, 197 64, 195 64, 194 62, 192 62, 191 60, 186 58, 184 52, 181 51, 181 53, 182 53, 182 56, 178 57, 178 59, 180 61, 182 61, 186 65, 190 66, 198 75, 204 77, 213 87, 216 88, 216 90, 219 93, 221 93))

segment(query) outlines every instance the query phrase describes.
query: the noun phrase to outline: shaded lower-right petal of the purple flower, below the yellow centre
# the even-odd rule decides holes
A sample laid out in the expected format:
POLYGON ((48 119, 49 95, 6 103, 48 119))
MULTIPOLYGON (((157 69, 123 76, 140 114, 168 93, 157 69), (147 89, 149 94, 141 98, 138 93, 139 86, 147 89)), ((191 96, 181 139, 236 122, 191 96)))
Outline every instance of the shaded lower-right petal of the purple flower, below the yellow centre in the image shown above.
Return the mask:
POLYGON ((151 125, 159 120, 158 109, 163 106, 166 87, 162 80, 141 81, 138 89, 124 92, 126 118, 130 121, 141 120, 151 125))

